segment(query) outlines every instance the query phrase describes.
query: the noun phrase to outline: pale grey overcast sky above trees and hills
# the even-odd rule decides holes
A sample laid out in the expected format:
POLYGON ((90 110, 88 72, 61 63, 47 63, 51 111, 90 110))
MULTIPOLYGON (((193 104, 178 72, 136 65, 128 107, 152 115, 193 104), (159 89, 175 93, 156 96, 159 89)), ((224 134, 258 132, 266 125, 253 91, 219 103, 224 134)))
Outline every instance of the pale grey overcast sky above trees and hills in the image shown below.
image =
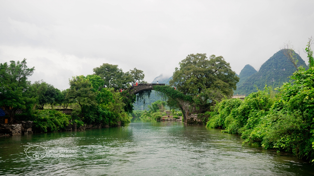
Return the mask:
MULTIPOLYGON (((191 53, 223 56, 240 73, 290 41, 314 36, 314 1, 0 1, 0 63, 27 58, 59 89, 102 63, 138 68, 151 82, 191 53)), ((314 46, 312 47, 314 48, 314 46)))

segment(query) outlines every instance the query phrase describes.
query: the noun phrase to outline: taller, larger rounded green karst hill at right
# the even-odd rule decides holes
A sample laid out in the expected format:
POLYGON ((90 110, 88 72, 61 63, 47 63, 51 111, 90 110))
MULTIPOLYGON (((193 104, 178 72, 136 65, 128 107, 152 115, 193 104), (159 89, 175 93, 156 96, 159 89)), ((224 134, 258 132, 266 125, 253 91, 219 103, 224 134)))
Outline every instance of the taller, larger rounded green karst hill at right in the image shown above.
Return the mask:
MULTIPOLYGON (((297 55, 297 58, 299 60, 299 66, 302 65, 307 69, 308 66, 306 65, 304 60, 297 53, 295 54, 297 55)), ((242 71, 243 70, 244 68, 242 69, 242 71)), ((244 75, 247 76, 252 73, 252 68, 250 70, 251 71, 249 72, 249 69, 245 69, 244 75)), ((241 78, 240 73, 240 81, 237 84, 237 90, 234 91, 234 94, 248 95, 252 92, 257 91, 255 86, 257 86, 258 89, 263 89, 265 87, 265 84, 267 84, 268 86, 273 86, 273 88, 280 87, 283 83, 289 81, 288 77, 290 77, 295 71, 296 68, 292 66, 290 61, 284 56, 284 54, 280 50, 272 57, 270 57, 265 63, 263 63, 257 73, 252 74, 248 78, 242 77, 243 79, 241 78)))

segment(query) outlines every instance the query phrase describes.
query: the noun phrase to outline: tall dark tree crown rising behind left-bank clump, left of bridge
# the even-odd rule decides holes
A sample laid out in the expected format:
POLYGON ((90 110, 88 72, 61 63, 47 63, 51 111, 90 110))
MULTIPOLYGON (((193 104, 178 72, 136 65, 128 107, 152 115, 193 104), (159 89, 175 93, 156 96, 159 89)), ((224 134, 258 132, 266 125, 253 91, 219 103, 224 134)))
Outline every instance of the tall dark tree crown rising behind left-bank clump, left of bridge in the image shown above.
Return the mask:
POLYGON ((104 63, 100 67, 94 68, 93 71, 95 75, 100 76, 105 81, 103 87, 119 90, 126 88, 131 82, 129 72, 124 73, 122 69, 118 68, 118 65, 104 63))

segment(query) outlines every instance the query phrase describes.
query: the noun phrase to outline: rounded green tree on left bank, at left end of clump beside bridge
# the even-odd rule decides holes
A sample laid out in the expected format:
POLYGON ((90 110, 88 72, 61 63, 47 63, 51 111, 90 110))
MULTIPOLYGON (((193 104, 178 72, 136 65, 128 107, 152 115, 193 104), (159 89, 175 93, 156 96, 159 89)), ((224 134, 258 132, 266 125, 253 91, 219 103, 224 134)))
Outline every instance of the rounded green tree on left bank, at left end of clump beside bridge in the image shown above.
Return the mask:
POLYGON ((89 79, 83 75, 72 77, 69 80, 70 89, 68 91, 69 98, 80 106, 80 116, 83 117, 85 110, 89 106, 96 106, 96 93, 89 79))

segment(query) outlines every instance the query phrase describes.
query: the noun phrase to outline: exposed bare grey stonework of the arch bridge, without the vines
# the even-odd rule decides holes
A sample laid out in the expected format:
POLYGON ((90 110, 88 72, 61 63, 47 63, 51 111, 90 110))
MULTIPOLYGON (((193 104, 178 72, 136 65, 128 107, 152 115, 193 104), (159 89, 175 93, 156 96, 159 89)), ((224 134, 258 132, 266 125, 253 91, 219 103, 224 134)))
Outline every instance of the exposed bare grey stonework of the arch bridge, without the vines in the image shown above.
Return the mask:
MULTIPOLYGON (((128 90, 129 90, 130 94, 136 95, 136 94, 141 93, 141 92, 146 91, 146 90, 154 90, 153 86, 157 86, 157 85, 158 86, 164 86, 165 84, 143 84, 143 83, 140 83, 137 86, 133 86, 133 87, 129 88, 128 90)), ((195 107, 192 107, 190 102, 187 102, 187 101, 184 101, 181 99, 177 99, 177 101, 179 102, 181 111, 183 113, 184 123, 187 123, 187 121, 191 118, 195 121, 200 121, 197 118, 198 113, 196 112, 195 107)))

